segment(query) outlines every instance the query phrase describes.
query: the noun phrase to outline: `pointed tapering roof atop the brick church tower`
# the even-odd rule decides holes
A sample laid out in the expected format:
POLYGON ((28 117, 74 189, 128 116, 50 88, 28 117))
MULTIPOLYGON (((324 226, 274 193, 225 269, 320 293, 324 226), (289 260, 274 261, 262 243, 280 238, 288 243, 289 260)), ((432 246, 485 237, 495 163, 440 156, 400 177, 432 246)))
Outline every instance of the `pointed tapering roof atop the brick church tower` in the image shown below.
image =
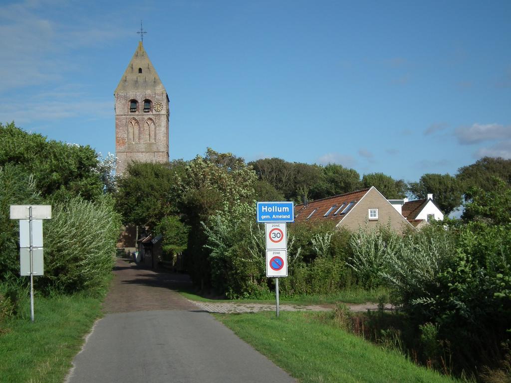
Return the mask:
POLYGON ((161 83, 156 70, 144 50, 142 41, 138 42, 137 49, 124 71, 121 81, 114 93, 119 92, 167 92, 161 83), (147 79, 149 78, 149 81, 147 79), (151 81, 154 79, 154 81, 151 81))

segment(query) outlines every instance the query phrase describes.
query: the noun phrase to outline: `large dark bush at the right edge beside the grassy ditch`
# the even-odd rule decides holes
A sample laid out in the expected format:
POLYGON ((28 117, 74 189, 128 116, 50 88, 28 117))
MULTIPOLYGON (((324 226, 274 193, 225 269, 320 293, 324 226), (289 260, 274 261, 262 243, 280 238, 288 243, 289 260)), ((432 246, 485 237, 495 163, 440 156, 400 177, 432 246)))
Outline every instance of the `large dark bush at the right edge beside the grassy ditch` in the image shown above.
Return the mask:
MULTIPOLYGON (((505 358, 511 341, 510 230, 511 225, 480 222, 431 225, 404 237, 388 258, 383 276, 409 325, 434 327, 429 349, 448 345, 458 373, 476 366, 496 368, 505 358)), ((439 360, 442 355, 435 356, 439 360)))

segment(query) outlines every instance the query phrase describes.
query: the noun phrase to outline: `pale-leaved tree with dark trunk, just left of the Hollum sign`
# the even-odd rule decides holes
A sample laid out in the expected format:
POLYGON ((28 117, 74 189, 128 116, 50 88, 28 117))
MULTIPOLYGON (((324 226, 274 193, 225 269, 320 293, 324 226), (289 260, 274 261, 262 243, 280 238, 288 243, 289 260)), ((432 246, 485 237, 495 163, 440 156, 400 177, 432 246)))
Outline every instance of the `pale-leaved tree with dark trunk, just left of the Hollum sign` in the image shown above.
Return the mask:
MULTIPOLYGON (((190 226, 187 261, 192 280, 204 288, 212 284, 211 249, 205 248, 216 226, 209 227, 212 217, 237 225, 255 214, 254 185, 257 175, 243 158, 231 153, 207 149, 204 157, 197 156, 178 177, 176 193, 184 223, 190 226), (205 227, 213 230, 209 235, 205 227)), ((234 227, 230 232, 234 233, 234 227)), ((222 250, 223 251, 223 250, 222 250)), ((216 275, 216 274, 215 274, 216 275)))

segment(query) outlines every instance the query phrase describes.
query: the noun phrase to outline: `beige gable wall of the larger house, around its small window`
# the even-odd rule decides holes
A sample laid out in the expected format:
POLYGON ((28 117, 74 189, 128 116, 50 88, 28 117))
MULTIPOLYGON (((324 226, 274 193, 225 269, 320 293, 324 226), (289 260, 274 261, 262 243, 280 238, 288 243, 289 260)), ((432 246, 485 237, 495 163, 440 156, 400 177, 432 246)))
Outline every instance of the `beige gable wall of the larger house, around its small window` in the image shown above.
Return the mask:
POLYGON ((408 221, 375 188, 371 188, 367 192, 339 223, 338 227, 357 230, 359 226, 364 227, 366 222, 370 228, 390 224, 390 228, 400 234, 412 228, 408 221), (378 220, 369 220, 369 209, 373 208, 378 209, 378 220))

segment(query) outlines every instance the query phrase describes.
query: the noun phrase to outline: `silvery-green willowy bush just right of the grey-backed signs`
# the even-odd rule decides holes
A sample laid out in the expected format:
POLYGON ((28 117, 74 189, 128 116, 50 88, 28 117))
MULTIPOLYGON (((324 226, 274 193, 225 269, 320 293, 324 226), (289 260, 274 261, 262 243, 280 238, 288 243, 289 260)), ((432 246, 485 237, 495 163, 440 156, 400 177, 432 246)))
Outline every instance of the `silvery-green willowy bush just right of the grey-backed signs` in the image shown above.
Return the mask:
POLYGON ((37 285, 46 290, 94 292, 113 267, 121 220, 113 200, 74 198, 53 206, 44 222, 44 276, 37 285))

